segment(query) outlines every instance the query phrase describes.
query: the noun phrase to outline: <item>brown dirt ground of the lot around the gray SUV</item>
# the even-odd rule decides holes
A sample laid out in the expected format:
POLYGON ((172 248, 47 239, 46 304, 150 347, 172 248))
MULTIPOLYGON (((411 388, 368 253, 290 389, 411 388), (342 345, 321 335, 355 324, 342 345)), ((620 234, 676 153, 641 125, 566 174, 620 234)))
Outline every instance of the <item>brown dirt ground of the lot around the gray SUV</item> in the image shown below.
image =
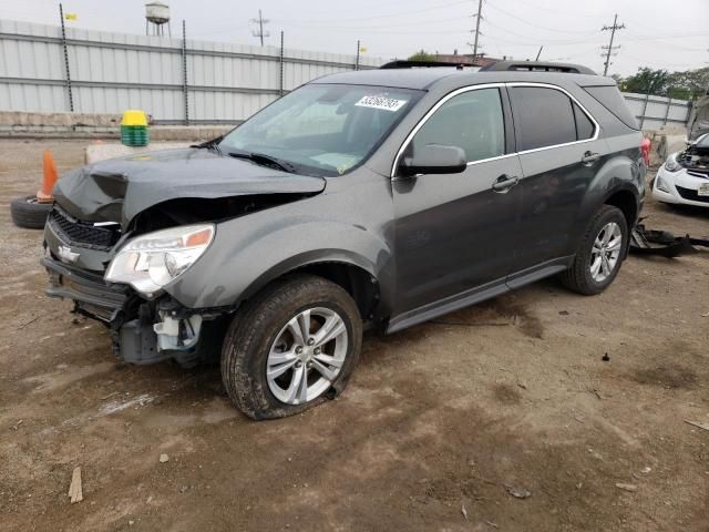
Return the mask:
MULTIPOLYGON (((341 398, 256 423, 218 368, 119 366, 44 297, 41 233, 8 204, 42 149, 65 171, 84 144, 0 141, 0 529, 709 530, 709 431, 686 422, 709 422, 709 253, 370 335, 341 398)), ((648 203, 649 226, 709 236, 709 209, 648 203)))

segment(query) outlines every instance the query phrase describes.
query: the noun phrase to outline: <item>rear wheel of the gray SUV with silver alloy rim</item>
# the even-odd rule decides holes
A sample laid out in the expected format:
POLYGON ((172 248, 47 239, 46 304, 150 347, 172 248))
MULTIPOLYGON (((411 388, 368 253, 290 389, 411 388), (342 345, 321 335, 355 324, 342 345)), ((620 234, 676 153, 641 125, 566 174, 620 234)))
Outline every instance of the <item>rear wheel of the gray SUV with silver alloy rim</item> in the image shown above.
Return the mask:
POLYGON ((628 242, 625 215, 618 207, 604 205, 588 224, 571 267, 561 275, 562 283, 585 296, 600 294, 618 275, 628 242))

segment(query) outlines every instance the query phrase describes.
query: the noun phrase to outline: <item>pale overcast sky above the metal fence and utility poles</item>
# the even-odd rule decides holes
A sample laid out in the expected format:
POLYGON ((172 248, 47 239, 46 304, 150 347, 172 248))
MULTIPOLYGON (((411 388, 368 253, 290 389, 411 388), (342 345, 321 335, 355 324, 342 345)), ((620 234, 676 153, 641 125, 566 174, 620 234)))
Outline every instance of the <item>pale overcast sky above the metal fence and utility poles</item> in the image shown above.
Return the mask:
MULTIPOLYGON (((66 0, 64 11, 75 13, 68 25, 94 30, 144 33, 145 0, 66 0)), ((249 19, 258 9, 269 22, 267 44, 278 44, 280 30, 286 47, 354 53, 357 40, 367 54, 384 59, 405 58, 417 50, 470 53, 472 14, 477 0, 172 0, 173 33, 182 19, 187 38, 257 43, 256 24, 249 19)), ((709 65, 709 0, 485 0, 482 51, 487 55, 578 62, 603 71, 600 47, 608 44, 604 25, 618 23, 620 49, 609 73, 628 75, 638 66, 670 71, 709 65), (681 6, 681 7, 680 7, 681 6)), ((58 2, 52 0, 0 0, 0 18, 59 23, 58 2)))

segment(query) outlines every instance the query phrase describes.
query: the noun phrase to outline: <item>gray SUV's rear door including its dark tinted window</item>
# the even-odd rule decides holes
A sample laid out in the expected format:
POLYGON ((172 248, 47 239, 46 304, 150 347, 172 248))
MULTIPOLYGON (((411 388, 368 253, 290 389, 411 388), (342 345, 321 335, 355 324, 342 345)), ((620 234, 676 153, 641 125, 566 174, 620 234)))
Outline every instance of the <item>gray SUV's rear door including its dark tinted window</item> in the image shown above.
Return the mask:
POLYGON ((607 147, 596 121, 563 89, 513 83, 510 93, 523 173, 515 269, 531 273, 575 253, 579 207, 607 147))

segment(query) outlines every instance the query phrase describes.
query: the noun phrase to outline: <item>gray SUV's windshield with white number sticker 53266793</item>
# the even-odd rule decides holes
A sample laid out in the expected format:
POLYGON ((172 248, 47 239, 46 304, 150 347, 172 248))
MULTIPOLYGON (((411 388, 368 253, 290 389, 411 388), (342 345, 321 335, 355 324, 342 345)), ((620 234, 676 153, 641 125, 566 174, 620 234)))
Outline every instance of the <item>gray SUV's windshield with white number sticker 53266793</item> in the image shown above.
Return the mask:
POLYGON ((225 153, 256 153, 300 172, 341 175, 374 151, 421 91, 310 84, 277 100, 219 143, 225 153))

